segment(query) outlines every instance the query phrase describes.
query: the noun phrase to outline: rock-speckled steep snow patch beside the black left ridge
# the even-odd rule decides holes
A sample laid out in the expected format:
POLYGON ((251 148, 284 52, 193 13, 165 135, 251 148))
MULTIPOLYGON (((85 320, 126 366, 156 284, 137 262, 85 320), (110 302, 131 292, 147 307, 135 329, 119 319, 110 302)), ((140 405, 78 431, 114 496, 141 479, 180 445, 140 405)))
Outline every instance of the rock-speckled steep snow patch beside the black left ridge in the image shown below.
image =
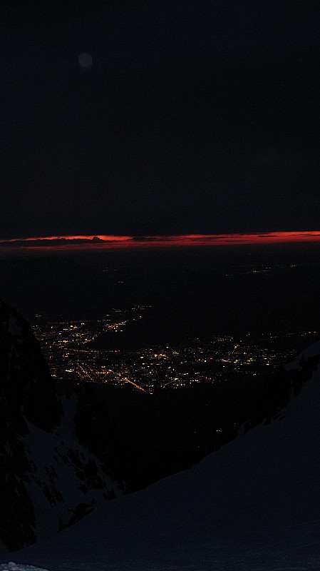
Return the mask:
POLYGON ((33 471, 25 486, 36 515, 36 535, 48 538, 66 527, 73 517, 81 517, 94 505, 105 502, 106 495, 119 491, 98 464, 97 458, 79 445, 73 430, 76 398, 64 403, 68 414, 52 433, 45 433, 31 423, 24 438, 26 455, 33 471), (97 485, 87 485, 86 469, 93 467, 97 485), (50 517, 48 517, 48 504, 50 517))

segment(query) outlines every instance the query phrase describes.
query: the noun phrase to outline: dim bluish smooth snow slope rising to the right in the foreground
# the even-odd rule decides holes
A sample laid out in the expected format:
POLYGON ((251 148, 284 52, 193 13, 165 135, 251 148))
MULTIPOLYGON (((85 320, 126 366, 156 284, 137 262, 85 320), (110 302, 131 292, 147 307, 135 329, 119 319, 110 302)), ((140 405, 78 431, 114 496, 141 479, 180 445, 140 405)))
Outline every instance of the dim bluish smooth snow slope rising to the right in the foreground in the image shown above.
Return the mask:
MULTIPOLYGON (((319 353, 316 343, 304 356, 319 353)), ((0 569, 319 571, 319 408, 317 365, 277 420, 14 553, 16 567, 0 569)))

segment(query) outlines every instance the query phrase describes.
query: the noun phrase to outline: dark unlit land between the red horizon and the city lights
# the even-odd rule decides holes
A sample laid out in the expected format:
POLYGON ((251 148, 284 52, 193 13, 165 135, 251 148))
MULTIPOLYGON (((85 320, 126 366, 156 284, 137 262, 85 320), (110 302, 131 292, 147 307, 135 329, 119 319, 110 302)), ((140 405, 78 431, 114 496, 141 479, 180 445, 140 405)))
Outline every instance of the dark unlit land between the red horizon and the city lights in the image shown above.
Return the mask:
POLYGON ((129 258, 127 253, 118 264, 115 258, 100 258, 96 267, 79 258, 0 260, 0 292, 31 323, 35 313, 47 320, 98 319, 112 308, 152 306, 121 335, 101 335, 95 342, 99 349, 205 340, 216 333, 318 330, 318 251, 303 256, 299 265, 290 264, 297 257, 291 251, 262 253, 230 259, 207 252, 198 258, 195 253, 129 258))

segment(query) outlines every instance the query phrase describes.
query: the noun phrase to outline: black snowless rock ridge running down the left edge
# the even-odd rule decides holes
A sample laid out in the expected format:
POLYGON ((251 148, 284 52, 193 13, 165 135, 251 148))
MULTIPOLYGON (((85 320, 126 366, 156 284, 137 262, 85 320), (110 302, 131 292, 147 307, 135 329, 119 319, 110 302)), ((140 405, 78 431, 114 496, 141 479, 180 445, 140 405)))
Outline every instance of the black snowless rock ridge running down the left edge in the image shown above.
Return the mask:
POLYGON ((33 503, 26 491, 32 466, 24 449, 26 420, 50 430, 60 422, 61 406, 30 325, 0 306, 0 537, 7 547, 36 540, 33 503))

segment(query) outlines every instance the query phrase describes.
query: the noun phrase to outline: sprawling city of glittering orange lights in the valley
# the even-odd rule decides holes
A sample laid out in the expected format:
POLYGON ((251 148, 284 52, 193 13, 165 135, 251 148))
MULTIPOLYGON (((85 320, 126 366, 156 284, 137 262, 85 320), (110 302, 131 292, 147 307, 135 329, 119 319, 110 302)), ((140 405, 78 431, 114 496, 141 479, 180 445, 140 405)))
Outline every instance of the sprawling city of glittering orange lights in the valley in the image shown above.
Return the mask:
POLYGON ((143 319, 148 305, 113 308, 100 320, 43 320, 37 313, 33 330, 56 380, 76 383, 126 384, 153 393, 191 383, 221 383, 247 375, 253 378, 284 365, 308 345, 317 331, 277 335, 212 335, 210 340, 152 345, 135 350, 97 350, 100 333, 121 335, 130 321, 143 319))

